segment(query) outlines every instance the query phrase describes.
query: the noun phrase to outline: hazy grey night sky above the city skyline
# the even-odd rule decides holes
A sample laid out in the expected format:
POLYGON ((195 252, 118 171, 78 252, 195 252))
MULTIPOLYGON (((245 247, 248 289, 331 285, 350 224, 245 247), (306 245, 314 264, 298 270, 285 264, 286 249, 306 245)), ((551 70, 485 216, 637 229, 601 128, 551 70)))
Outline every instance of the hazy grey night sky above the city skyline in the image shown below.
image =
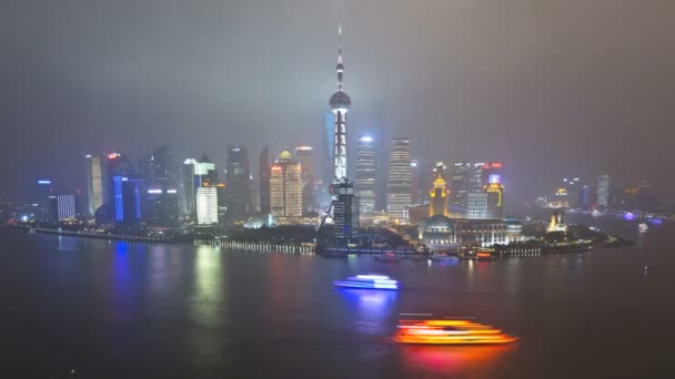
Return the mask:
POLYGON ((88 151, 318 145, 339 8, 351 137, 501 160, 517 199, 601 172, 675 186, 673 0, 3 0, 0 194, 68 190, 88 151))

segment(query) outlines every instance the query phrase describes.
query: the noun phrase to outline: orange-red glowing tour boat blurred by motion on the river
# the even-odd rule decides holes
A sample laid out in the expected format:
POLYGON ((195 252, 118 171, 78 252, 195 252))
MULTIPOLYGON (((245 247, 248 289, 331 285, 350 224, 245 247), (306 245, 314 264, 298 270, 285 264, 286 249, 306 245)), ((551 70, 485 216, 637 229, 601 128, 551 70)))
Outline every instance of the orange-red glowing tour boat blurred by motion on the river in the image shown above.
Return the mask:
POLYGON ((452 318, 399 320, 393 339, 416 345, 500 345, 517 340, 494 327, 452 318))

